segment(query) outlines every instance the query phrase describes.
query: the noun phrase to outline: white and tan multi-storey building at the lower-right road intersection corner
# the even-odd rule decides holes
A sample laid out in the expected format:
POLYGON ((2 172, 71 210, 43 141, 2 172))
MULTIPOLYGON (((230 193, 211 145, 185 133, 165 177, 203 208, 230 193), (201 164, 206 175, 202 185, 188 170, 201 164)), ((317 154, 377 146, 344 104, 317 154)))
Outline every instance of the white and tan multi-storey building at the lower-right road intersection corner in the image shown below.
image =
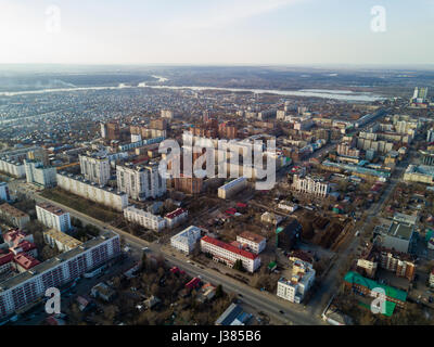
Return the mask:
POLYGON ((301 304, 315 282, 315 270, 307 261, 294 261, 290 280, 278 281, 277 296, 291 303, 301 304))

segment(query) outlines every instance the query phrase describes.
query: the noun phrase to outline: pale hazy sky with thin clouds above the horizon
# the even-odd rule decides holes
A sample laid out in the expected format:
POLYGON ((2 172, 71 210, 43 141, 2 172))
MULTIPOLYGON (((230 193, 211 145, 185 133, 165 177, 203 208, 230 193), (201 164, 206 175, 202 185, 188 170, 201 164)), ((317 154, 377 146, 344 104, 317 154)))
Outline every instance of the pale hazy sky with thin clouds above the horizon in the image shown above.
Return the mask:
POLYGON ((433 36, 434 0, 0 0, 0 64, 411 66, 433 36))

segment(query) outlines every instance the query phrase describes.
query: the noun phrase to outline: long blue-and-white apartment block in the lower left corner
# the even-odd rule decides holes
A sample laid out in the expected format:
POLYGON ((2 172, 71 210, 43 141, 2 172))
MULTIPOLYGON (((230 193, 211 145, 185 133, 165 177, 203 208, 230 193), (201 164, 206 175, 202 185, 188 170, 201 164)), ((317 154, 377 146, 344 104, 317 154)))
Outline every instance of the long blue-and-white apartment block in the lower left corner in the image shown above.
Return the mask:
POLYGON ((120 254, 119 235, 106 231, 78 247, 0 282, 0 319, 29 307, 49 287, 61 287, 120 254))

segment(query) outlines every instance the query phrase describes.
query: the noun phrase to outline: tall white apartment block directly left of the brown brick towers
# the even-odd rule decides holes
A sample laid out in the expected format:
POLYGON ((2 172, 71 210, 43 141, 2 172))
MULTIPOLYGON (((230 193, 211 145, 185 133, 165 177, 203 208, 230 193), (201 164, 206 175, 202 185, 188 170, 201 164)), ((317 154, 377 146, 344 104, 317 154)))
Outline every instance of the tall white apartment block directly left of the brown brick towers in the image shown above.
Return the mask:
POLYGON ((166 193, 166 179, 158 172, 158 166, 116 166, 117 188, 129 197, 144 201, 166 193))

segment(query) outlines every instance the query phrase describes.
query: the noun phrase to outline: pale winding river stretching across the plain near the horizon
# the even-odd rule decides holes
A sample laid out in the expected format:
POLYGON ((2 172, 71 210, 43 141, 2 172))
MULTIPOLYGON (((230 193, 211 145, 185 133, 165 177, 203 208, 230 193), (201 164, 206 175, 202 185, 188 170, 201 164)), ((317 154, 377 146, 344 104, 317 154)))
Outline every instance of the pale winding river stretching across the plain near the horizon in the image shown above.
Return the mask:
MULTIPOLYGON (((153 76, 158 79, 159 82, 167 81, 167 78, 161 76, 153 76)), ((358 101, 358 102, 372 102, 376 100, 384 100, 386 98, 375 95, 367 92, 353 92, 350 90, 329 90, 329 89, 302 89, 302 90, 279 90, 279 89, 248 89, 248 88, 221 88, 221 87, 190 87, 190 86, 150 86, 146 82, 140 82, 137 86, 128 86, 119 83, 117 87, 76 87, 76 88, 50 88, 39 90, 26 90, 26 91, 3 91, 0 92, 0 97, 15 97, 25 94, 41 94, 49 92, 68 92, 68 91, 86 91, 86 90, 115 90, 115 89, 129 89, 129 88, 154 88, 154 89, 173 89, 173 90, 218 90, 218 91, 232 91, 232 92, 252 92, 257 94, 277 94, 277 95, 289 95, 289 97, 307 97, 307 98, 321 98, 321 99, 333 99, 341 101, 358 101)))

